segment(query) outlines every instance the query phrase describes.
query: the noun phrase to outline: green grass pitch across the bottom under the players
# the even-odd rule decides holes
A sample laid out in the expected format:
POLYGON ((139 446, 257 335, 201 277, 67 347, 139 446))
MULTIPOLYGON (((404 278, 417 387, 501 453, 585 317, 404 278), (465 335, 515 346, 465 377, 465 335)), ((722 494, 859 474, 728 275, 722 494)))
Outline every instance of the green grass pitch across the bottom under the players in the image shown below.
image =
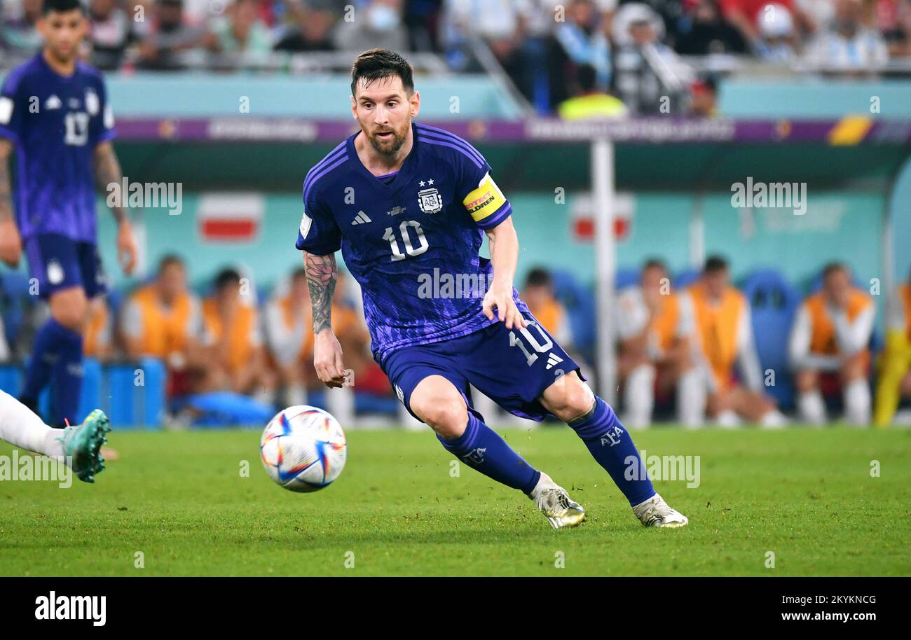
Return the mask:
POLYGON ((311 494, 271 483, 259 432, 115 431, 94 485, 0 482, 0 574, 911 574, 911 432, 633 432, 649 455, 700 456, 697 488, 656 483, 690 518, 664 531, 567 428, 501 433, 586 523, 554 531, 520 493, 454 477, 429 431, 348 432, 341 478, 311 494))

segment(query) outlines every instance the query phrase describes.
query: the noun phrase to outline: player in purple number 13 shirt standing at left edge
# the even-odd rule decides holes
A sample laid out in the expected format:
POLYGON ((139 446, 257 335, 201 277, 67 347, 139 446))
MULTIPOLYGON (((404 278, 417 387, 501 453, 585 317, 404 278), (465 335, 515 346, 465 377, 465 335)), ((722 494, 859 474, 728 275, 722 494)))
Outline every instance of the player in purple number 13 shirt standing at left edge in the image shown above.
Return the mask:
MULTIPOLYGON (((95 183, 122 178, 104 80, 77 59, 87 25, 78 0, 45 0, 37 24, 45 44, 6 76, 0 91, 0 260, 15 268, 25 248, 38 294, 51 310, 36 335, 20 400, 35 411, 39 393, 53 380, 47 422, 58 427, 77 422, 88 301, 107 290, 97 250, 95 183), (15 205, 9 173, 14 149, 15 205)), ((136 241, 125 208, 112 210, 119 259, 130 273, 136 241)), ((101 459, 95 445, 103 436, 98 428, 87 438, 94 449, 87 468, 96 471, 101 459)))

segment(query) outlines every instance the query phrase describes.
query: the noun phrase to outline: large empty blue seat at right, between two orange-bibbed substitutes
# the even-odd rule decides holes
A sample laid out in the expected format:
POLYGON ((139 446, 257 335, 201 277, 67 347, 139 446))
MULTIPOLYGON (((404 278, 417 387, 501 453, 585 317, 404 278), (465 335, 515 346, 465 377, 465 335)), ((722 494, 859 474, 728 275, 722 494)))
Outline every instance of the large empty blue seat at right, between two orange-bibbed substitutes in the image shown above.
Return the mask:
POLYGON ((775 384, 766 391, 779 407, 794 401, 793 375, 788 362, 788 338, 800 292, 775 269, 753 271, 743 282, 743 293, 752 309, 752 331, 760 365, 775 372, 775 384))

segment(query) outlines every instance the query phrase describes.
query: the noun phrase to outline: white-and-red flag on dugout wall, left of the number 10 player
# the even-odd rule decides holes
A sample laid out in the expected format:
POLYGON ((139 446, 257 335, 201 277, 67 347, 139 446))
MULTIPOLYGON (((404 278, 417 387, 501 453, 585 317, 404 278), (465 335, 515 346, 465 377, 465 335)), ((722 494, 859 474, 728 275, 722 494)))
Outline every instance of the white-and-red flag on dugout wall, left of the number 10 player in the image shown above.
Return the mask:
POLYGON ((197 212, 200 239, 209 243, 259 238, 265 198, 260 193, 206 193, 197 212))

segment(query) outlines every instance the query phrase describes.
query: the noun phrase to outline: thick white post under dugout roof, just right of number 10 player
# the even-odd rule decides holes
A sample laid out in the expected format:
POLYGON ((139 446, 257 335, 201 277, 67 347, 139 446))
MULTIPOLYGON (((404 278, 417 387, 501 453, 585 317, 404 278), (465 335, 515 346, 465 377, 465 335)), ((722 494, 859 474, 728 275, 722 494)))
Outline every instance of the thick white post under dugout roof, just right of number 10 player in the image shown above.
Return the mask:
POLYGON ((595 218, 595 317, 598 328, 599 395, 617 402, 617 353, 614 348, 614 280, 617 246, 614 240, 614 145, 599 137, 591 144, 591 187, 595 218))

